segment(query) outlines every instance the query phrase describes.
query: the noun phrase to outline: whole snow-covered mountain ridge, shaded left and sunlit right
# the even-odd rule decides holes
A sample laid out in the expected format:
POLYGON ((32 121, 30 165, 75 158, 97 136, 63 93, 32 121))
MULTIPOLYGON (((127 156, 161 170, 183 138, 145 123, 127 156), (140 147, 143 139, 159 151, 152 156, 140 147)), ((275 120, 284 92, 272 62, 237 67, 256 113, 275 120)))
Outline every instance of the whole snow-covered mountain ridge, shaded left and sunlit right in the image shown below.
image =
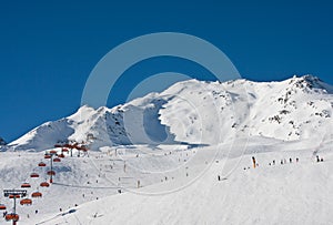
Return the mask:
POLYGON ((113 109, 87 105, 9 144, 42 151, 77 142, 91 150, 119 144, 219 144, 263 136, 283 141, 333 137, 333 88, 305 75, 281 82, 189 80, 113 109))

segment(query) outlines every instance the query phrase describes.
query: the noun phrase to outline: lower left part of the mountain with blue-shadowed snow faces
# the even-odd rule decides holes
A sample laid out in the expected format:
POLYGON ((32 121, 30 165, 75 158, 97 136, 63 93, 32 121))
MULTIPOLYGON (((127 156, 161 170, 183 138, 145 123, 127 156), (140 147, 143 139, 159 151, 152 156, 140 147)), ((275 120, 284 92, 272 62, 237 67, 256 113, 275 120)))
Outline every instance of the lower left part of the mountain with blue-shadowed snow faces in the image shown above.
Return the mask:
POLYGON ((114 109, 84 105, 71 116, 38 126, 9 147, 39 152, 67 142, 89 144, 91 150, 118 144, 174 143, 173 135, 159 122, 161 103, 150 94, 114 109))

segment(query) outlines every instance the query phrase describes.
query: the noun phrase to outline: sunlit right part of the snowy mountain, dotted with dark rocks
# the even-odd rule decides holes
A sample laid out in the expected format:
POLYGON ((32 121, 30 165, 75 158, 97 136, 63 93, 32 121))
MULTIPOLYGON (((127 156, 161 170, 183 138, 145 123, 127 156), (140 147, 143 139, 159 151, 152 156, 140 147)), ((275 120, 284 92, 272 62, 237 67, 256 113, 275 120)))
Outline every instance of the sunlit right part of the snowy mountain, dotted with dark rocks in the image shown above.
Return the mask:
POLYGON ((165 92, 181 96, 161 111, 162 123, 180 141, 216 144, 235 133, 292 141, 313 137, 317 130, 332 135, 333 91, 313 76, 269 83, 188 81, 165 92), (186 115, 182 126, 176 125, 179 113, 186 115))

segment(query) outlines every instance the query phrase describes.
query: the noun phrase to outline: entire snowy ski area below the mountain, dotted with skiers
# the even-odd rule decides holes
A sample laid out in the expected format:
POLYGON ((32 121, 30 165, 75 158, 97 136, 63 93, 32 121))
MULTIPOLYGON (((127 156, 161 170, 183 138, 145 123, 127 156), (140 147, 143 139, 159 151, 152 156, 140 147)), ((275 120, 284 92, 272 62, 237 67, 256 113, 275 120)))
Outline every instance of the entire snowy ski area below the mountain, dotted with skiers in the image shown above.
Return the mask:
MULTIPOLYGON (((39 188, 43 197, 33 200, 32 206, 18 206, 20 223, 333 223, 332 140, 325 140, 316 152, 324 157, 321 163, 315 162, 315 143, 262 137, 246 141, 233 146, 194 149, 160 145, 159 150, 133 145, 118 149, 118 156, 105 154, 114 153, 115 149, 110 147, 92 152, 90 157, 67 157, 56 167, 56 183, 47 190, 39 188), (244 151, 241 145, 246 145, 244 151), (230 147, 234 154, 224 154, 230 147), (252 155, 258 160, 256 168, 252 168, 252 155), (280 160, 290 157, 293 163, 280 164, 280 160), (276 165, 269 165, 273 160, 276 165), (119 194, 118 188, 123 193, 119 194), (34 214, 34 209, 39 213, 34 214)), ((6 152, 0 156, 1 191, 30 182, 31 193, 44 180, 27 178, 32 171, 42 174, 42 170, 36 168, 41 153, 6 152)), ((4 198, 0 203, 12 204, 4 198)))

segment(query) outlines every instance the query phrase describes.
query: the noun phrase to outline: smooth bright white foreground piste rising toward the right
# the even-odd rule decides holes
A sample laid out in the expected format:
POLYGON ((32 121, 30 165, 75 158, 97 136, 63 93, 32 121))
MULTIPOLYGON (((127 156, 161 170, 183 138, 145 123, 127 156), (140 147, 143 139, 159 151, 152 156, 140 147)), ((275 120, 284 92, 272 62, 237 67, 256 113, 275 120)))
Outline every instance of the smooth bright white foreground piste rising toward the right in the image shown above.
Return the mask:
MULTIPOLYGON (((221 182, 216 178, 221 165, 214 164, 184 190, 158 196, 113 195, 83 204, 73 214, 47 217, 46 224, 332 224, 332 154, 325 164, 299 154, 303 161, 299 164, 239 168, 221 182)), ((259 157, 265 163, 273 158, 259 157)), ((161 185, 172 190, 176 182, 145 192, 161 185)))

